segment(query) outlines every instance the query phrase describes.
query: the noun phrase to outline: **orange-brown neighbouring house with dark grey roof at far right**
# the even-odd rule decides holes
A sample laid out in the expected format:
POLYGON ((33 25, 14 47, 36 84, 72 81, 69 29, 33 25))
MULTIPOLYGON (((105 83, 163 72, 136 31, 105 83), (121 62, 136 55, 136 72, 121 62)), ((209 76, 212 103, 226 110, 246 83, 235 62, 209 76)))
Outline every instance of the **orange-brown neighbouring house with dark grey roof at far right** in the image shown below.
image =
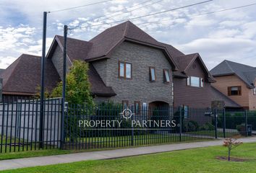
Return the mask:
POLYGON ((256 68, 232 61, 223 61, 210 73, 213 86, 244 109, 256 109, 256 68))

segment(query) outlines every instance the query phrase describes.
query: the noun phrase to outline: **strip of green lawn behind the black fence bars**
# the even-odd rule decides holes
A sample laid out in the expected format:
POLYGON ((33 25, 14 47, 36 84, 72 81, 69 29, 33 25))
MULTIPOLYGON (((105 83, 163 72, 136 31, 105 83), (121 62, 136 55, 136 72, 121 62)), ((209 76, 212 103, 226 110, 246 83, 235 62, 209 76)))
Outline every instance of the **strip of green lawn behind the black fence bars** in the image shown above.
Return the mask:
MULTIPOLYGON (((133 146, 145 146, 161 143, 178 143, 178 142, 191 142, 209 140, 209 136, 202 136, 202 133, 195 133, 194 136, 189 136, 183 133, 160 133, 160 134, 145 134, 133 136, 133 146)), ((90 148, 116 148, 132 146, 132 136, 108 136, 108 137, 89 137, 89 138, 76 138, 72 143, 77 145, 69 145, 69 138, 66 139, 67 149, 90 149, 90 148), (80 144, 79 144, 80 143, 80 144)))

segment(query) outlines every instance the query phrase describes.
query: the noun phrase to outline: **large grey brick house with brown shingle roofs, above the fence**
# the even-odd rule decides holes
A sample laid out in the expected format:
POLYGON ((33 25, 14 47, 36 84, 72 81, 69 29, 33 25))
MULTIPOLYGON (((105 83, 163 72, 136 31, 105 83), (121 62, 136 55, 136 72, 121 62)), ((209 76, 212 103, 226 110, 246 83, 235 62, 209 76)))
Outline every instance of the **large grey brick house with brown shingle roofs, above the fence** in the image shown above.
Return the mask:
MULTIPOLYGON (((63 45, 63 37, 56 35, 46 56, 48 91, 62 78, 63 45)), ((67 66, 74 60, 89 63, 90 92, 95 102, 210 107, 216 99, 210 86, 215 80, 198 53, 184 55, 129 21, 89 41, 68 38, 67 66)), ((40 85, 40 58, 22 55, 1 77, 5 95, 31 96, 40 85)))

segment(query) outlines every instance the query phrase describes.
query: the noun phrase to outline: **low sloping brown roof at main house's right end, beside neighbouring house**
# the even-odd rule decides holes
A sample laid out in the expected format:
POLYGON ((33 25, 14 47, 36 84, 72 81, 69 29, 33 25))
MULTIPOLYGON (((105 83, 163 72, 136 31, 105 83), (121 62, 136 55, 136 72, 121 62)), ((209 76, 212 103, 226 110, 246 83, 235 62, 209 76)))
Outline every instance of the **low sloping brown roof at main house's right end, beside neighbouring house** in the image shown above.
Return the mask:
POLYGON ((238 103, 234 102, 233 99, 230 99, 222 92, 219 92, 215 87, 211 86, 211 89, 213 92, 213 101, 224 101, 226 107, 242 107, 238 103))

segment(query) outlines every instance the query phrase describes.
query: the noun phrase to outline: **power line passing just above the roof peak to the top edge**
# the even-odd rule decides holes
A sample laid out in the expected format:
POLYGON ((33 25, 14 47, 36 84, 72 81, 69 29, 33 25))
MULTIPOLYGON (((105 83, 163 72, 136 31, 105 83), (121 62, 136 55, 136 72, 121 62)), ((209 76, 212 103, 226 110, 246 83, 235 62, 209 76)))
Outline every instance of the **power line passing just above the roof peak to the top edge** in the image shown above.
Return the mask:
POLYGON ((142 17, 149 17, 149 16, 153 16, 155 14, 162 14, 162 13, 171 12, 171 11, 174 11, 174 10, 177 10, 177 9, 184 9, 184 8, 189 7, 189 6, 196 6, 196 5, 199 5, 199 4, 204 4, 204 3, 207 3, 209 1, 213 1, 213 0, 202 1, 202 2, 195 3, 195 4, 189 4, 187 6, 181 6, 181 7, 177 7, 177 8, 174 8, 174 9, 168 9, 168 10, 165 10, 163 12, 155 12, 155 13, 147 14, 147 15, 140 16, 140 17, 132 17, 132 18, 127 18, 127 19, 121 19, 119 21, 108 22, 108 23, 105 23, 105 24, 89 25, 89 26, 84 26, 84 27, 83 26, 77 26, 77 27, 69 28, 69 30, 75 30, 77 28, 82 29, 82 28, 86 28, 86 27, 95 27, 95 26, 100 26, 100 25, 108 25, 108 24, 112 24, 112 23, 116 23, 116 22, 124 22, 126 20, 131 20, 131 19, 139 19, 139 18, 142 18, 142 17))

